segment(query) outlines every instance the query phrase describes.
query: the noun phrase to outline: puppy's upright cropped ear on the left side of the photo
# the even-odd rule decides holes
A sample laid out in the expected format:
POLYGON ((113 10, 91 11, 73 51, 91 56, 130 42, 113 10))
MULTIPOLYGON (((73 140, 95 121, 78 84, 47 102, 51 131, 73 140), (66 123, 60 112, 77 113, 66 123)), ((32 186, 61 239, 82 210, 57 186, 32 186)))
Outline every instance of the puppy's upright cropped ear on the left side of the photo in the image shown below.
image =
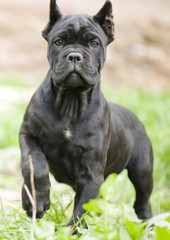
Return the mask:
POLYGON ((59 7, 56 4, 56 0, 50 1, 50 13, 49 22, 45 29, 42 31, 42 36, 47 40, 48 33, 51 31, 54 24, 63 16, 59 7))

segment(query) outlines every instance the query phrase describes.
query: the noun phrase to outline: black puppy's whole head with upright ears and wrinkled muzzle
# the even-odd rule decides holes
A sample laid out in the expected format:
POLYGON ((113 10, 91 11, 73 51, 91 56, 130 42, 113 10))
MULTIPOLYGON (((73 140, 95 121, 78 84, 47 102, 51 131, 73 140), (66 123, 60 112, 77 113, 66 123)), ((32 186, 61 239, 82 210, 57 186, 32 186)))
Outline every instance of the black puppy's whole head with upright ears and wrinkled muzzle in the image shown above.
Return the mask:
POLYGON ((114 39, 112 4, 95 15, 63 15, 50 2, 50 21, 43 31, 48 41, 51 78, 56 87, 87 90, 100 79, 106 47, 114 39))

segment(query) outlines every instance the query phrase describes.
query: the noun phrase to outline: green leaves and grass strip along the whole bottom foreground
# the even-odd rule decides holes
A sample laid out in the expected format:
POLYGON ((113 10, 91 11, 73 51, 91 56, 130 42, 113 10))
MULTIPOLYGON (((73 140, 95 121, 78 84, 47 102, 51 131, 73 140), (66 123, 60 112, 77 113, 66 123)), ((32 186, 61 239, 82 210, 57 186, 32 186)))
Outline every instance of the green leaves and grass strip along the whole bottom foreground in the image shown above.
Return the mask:
MULTIPOLYGON (((63 208, 63 196, 52 196, 52 209, 45 217, 37 220, 35 228, 36 240, 167 240, 170 237, 170 214, 161 214, 143 222, 139 220, 132 207, 125 205, 115 198, 119 176, 111 174, 100 188, 100 198, 84 204, 88 211, 84 219, 88 229, 78 228, 78 235, 71 235, 67 227, 66 210, 70 203, 63 208), (110 189, 113 187, 113 192, 110 189), (56 201, 54 201, 54 197, 56 201), (58 207, 60 206, 60 207, 58 207), (56 210, 57 209, 57 210, 56 210), (55 211, 57 216, 54 214, 55 211), (53 217, 51 214, 54 214, 53 217)), ((123 195, 122 191, 122 195, 123 195)), ((21 210, 20 202, 16 207, 0 209, 0 239, 29 240, 32 228, 31 220, 21 210)))

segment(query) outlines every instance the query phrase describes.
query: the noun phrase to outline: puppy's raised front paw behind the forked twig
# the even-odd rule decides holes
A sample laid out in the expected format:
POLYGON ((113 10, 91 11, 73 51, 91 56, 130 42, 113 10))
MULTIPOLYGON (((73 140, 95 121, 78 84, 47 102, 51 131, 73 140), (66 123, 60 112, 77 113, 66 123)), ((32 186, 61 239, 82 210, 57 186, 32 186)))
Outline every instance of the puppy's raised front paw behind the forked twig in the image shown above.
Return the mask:
MULTIPOLYGON (((45 211, 50 208, 50 191, 38 191, 36 190, 36 218, 42 218, 45 211)), ((22 188, 22 206, 23 209, 27 212, 29 217, 32 217, 33 206, 28 198, 28 195, 22 188)))

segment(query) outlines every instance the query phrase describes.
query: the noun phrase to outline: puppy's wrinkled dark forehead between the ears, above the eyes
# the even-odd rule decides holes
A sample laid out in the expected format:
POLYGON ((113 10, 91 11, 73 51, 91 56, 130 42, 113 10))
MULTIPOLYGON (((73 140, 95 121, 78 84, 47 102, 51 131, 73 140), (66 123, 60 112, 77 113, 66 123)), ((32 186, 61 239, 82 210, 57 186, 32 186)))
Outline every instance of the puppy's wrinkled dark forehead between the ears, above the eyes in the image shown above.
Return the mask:
POLYGON ((67 35, 67 38, 78 37, 84 34, 94 35, 106 41, 106 36, 98 23, 89 15, 65 15, 53 27, 49 38, 67 35))

